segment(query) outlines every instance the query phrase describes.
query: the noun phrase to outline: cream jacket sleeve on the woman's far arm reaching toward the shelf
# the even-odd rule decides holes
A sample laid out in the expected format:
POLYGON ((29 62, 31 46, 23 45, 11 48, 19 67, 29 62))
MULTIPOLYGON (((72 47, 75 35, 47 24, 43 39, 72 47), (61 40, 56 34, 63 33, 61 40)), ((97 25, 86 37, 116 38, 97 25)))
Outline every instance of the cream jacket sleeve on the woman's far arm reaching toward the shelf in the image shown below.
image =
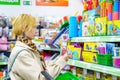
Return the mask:
POLYGON ((55 60, 46 60, 45 62, 48 73, 54 78, 60 74, 61 70, 66 65, 66 61, 62 56, 55 60))

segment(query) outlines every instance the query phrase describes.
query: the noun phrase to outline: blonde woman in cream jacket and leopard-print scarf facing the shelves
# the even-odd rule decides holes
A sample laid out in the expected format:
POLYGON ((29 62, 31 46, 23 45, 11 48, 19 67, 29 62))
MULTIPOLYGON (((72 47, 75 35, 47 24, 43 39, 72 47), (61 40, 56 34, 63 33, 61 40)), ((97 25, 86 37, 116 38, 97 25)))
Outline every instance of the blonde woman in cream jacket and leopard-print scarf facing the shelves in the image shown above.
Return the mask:
POLYGON ((12 26, 14 34, 19 37, 11 52, 8 67, 17 51, 23 48, 27 50, 21 51, 17 56, 10 71, 11 80, 45 80, 45 77, 41 74, 44 69, 53 78, 58 76, 61 69, 66 65, 66 61, 71 58, 71 55, 66 53, 56 60, 44 61, 31 41, 36 35, 36 19, 31 15, 19 15, 12 26), (21 37, 23 34, 25 36, 21 37))

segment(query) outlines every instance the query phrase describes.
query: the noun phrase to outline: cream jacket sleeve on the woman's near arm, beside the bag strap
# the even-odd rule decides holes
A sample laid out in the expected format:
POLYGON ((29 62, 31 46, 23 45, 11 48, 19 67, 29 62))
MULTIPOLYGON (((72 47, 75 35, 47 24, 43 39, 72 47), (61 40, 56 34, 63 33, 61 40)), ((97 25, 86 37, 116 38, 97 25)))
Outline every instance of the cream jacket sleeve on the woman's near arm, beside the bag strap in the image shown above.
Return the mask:
POLYGON ((42 66, 35 60, 35 55, 32 55, 28 51, 21 52, 16 61, 14 70, 23 80, 45 80, 41 74, 42 66))

